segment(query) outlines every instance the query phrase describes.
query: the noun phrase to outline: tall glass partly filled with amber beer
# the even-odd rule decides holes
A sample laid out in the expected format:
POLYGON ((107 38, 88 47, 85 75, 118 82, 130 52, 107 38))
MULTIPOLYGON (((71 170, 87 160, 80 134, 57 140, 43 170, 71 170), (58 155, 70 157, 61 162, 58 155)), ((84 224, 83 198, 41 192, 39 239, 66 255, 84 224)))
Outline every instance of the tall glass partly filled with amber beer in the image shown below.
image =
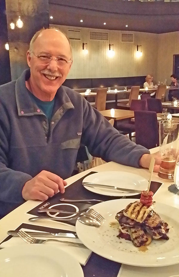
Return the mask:
POLYGON ((158 176, 162 179, 173 180, 178 156, 179 122, 164 120, 159 122, 159 145, 161 165, 158 176))

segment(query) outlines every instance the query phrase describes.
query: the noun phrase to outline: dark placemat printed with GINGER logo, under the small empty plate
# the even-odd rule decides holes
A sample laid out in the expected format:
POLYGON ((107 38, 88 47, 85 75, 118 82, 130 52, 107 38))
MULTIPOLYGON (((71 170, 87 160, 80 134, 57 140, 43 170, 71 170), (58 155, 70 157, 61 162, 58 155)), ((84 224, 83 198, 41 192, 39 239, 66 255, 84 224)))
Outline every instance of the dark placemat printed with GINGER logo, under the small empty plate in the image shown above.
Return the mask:
MULTIPOLYGON (((86 203, 86 202, 61 202, 60 198, 69 198, 69 199, 98 199, 102 201, 107 201, 107 200, 113 200, 113 199, 120 199, 121 197, 116 197, 116 196, 106 196, 106 195, 101 195, 97 194, 91 191, 88 191, 84 186, 82 185, 83 179, 90 175, 96 173, 94 171, 88 173, 87 175, 83 176, 82 178, 78 179, 74 183, 72 183, 69 187, 65 189, 65 193, 61 194, 58 192, 55 194, 53 197, 49 198, 47 201, 44 201, 40 205, 36 206, 32 210, 28 211, 28 214, 32 214, 34 216, 49 216, 49 219, 52 218, 54 215, 56 218, 61 218, 62 222, 65 222, 67 224, 75 226, 76 219, 75 220, 69 220, 69 221, 63 221, 64 217, 70 217, 69 214, 55 214, 55 213, 50 213, 50 215, 47 215, 47 213, 38 213, 38 209, 43 209, 43 208, 56 208, 56 209, 61 209, 65 211, 72 211, 75 212, 77 211, 76 208, 80 210, 89 208, 93 206, 94 204, 98 202, 93 202, 93 203, 86 203), (63 218, 62 218, 63 217, 63 218)), ((150 185, 150 190, 155 193, 158 188, 161 186, 162 183, 159 182, 151 182, 150 185)), ((127 195, 127 194, 126 194, 127 195)), ((140 198, 140 194, 134 195, 134 196, 126 196, 126 198, 140 198)))

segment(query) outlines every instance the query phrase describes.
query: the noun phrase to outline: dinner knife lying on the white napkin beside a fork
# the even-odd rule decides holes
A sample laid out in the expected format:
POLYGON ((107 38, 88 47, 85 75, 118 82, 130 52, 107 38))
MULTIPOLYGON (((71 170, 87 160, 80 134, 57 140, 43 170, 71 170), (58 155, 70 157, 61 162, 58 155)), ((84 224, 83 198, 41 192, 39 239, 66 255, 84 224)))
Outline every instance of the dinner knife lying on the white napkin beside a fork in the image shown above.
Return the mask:
MULTIPOLYGON (((7 235, 18 236, 18 231, 8 231, 7 235)), ((46 233, 46 232, 26 232, 36 237, 61 237, 61 238, 78 238, 76 233, 46 233)))

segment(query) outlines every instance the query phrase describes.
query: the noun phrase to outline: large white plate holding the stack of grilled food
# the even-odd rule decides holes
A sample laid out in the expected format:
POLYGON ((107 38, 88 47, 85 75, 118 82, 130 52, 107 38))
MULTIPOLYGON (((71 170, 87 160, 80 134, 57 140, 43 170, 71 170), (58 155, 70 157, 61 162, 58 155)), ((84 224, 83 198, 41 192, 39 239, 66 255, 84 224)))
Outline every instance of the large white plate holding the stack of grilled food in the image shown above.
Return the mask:
POLYGON ((82 224, 77 220, 78 238, 98 255, 122 264, 140 267, 162 267, 179 264, 179 210, 162 204, 155 204, 155 211, 169 224, 169 240, 152 240, 146 252, 141 252, 131 241, 117 238, 117 212, 138 199, 115 199, 98 203, 92 208, 105 218, 100 228, 82 224), (110 226, 110 223, 117 223, 110 226))

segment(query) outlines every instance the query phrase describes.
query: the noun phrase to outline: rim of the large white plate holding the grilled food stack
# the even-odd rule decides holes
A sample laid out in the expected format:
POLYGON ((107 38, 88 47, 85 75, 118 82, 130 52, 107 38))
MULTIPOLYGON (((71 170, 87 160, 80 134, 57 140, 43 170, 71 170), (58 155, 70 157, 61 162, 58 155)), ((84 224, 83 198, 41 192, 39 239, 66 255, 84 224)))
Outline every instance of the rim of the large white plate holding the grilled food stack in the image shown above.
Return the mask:
MULTIPOLYGON (((99 209, 98 209, 98 207, 99 206, 102 206, 102 205, 106 205, 105 203, 109 203, 109 206, 114 206, 115 205, 115 202, 117 203, 124 203, 123 205, 123 207, 122 208, 124 208, 128 203, 130 203, 130 202, 133 202, 133 201, 138 201, 139 199, 114 199, 114 200, 109 200, 109 201, 105 201, 105 202, 102 202, 102 203, 98 203, 98 204, 95 204, 94 206, 92 206, 91 208, 94 208, 94 209, 96 209, 97 211, 99 211, 99 209)), ((173 207, 173 206, 169 206, 169 205, 166 205, 166 204, 163 204, 163 203, 159 203, 159 202, 157 202, 156 204, 158 204, 158 205, 162 205, 162 206, 164 206, 164 207, 166 207, 166 211, 167 211, 167 207, 168 208, 172 208, 173 210, 175 210, 175 212, 176 213, 178 213, 178 209, 177 208, 175 208, 175 207, 173 207)), ((117 205, 116 205, 117 206, 117 205)), ((122 209, 121 208, 121 209, 122 209)), ((118 211, 120 211, 120 208, 118 208, 117 210, 118 211), (118 210, 119 209, 119 210, 118 210)), ((99 211, 101 214, 102 214, 102 212, 101 211, 99 211)), ((103 216, 104 216, 104 214, 102 214, 103 216)), ((178 222, 179 222, 179 220, 178 220, 178 222)), ((176 262, 168 262, 167 263, 167 259, 165 259, 164 260, 164 262, 163 262, 163 260, 159 260, 159 263, 157 263, 157 262, 154 262, 153 264, 149 264, 149 263, 147 263, 147 264, 142 264, 142 262, 141 263, 138 263, 138 264, 136 264, 136 263, 134 263, 134 262, 132 262, 132 255, 134 255, 134 254, 130 254, 130 253, 127 253, 127 256, 129 255, 130 256, 130 258, 128 257, 128 258, 124 258, 124 257, 126 257, 126 253, 125 253, 125 255, 124 255, 124 252, 123 253, 121 253, 121 255, 122 255, 122 258, 121 258, 121 260, 119 261, 119 259, 116 259, 116 258, 114 258, 113 256, 110 256, 111 254, 110 254, 110 252, 108 252, 107 253, 107 255, 105 255, 104 254, 104 251, 102 250, 102 249, 100 249, 100 247, 98 247, 98 245, 97 245, 97 243, 95 243, 95 241, 93 241, 93 238, 94 238, 94 236, 95 236, 95 234, 93 234, 93 232, 92 232, 92 230, 95 230, 95 229, 98 229, 98 228, 96 228, 96 227, 90 227, 90 226, 87 226, 87 225, 84 225, 84 224, 82 224, 82 223, 80 223, 78 220, 76 221, 76 233, 77 233, 77 235, 78 235, 78 238, 82 241, 82 243, 85 245, 85 246, 87 246, 91 251, 93 251, 93 252, 95 252, 96 254, 98 254, 98 255, 100 255, 100 256, 102 256, 102 257, 104 257, 104 258, 107 258, 107 259, 109 259, 109 260, 112 260, 112 261, 115 261, 115 262, 119 262, 119 263, 121 263, 121 264, 127 264, 127 265, 132 265, 132 266, 139 266, 139 267, 163 267, 163 266, 169 266, 169 265, 174 265, 174 264, 179 264, 179 255, 177 256, 177 258, 178 258, 178 261, 176 261, 176 262), (85 226, 85 228, 83 228, 85 226), (83 230, 83 235, 87 235, 87 228, 91 228, 90 229, 90 234, 91 234, 91 237, 92 237, 92 240, 91 240, 91 244, 90 243, 88 243, 87 241, 84 241, 84 238, 83 238, 83 236, 81 235, 82 233, 80 232, 80 228, 82 227, 82 229, 84 229, 83 230), (95 245, 95 248, 94 248, 94 245, 95 245), (96 250, 96 247, 97 247, 97 250, 96 250), (101 252, 102 251, 102 252, 101 252), (163 263, 162 263, 163 262, 163 263)), ((89 238, 89 236, 88 236, 88 238, 89 238)), ((131 242, 132 243, 132 242, 131 242)), ((119 252, 120 253, 120 252, 119 252)), ((147 253, 147 252, 146 252, 147 253)), ((146 253, 144 253, 144 255, 146 255, 146 253)), ((112 254, 114 254, 114 253, 112 253, 112 254)), ((144 258, 146 258, 145 256, 144 256, 144 258)), ((141 259, 140 259, 141 260, 141 259)))

